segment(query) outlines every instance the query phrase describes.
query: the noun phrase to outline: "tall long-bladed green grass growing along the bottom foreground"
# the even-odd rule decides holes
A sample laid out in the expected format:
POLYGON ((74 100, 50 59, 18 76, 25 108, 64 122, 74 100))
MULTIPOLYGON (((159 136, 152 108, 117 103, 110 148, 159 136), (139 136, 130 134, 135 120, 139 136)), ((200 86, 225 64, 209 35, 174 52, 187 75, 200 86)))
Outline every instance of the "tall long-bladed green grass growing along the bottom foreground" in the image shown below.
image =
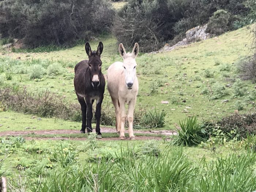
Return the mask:
MULTIPOLYGON (((62 158, 59 156, 59 158, 62 158)), ((133 147, 101 158, 43 170, 44 177, 27 175, 28 190, 36 191, 253 191, 255 153, 231 154, 214 161, 192 161, 182 147, 167 147, 159 156, 133 147)), ((41 172, 41 169, 39 173, 41 172)), ((26 171, 25 171, 26 173, 26 171)))

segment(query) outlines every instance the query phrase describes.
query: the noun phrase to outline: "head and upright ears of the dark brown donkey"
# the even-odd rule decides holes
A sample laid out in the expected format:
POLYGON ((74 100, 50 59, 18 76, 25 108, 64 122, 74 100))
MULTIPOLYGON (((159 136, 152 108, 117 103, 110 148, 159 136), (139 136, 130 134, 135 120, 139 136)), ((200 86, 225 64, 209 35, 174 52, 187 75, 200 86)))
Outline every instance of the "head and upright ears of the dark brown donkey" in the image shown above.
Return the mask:
POLYGON ((89 56, 89 72, 91 77, 91 84, 94 89, 97 89, 99 87, 99 80, 101 76, 101 53, 103 51, 103 44, 102 42, 99 42, 97 51, 91 51, 91 47, 89 42, 85 44, 85 51, 87 55, 89 56))

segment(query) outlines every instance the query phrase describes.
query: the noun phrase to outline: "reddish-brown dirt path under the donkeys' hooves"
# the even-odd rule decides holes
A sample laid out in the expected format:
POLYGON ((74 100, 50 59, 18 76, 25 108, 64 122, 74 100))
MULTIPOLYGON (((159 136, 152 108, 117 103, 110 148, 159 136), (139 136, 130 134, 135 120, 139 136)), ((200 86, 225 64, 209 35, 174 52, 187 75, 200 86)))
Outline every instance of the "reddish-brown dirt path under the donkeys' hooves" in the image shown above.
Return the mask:
MULTIPOLYGON (((74 134, 74 133, 80 133, 79 130, 68 130, 68 129, 59 129, 59 130, 28 130, 28 131, 3 131, 0 132, 0 136, 21 136, 21 135, 28 135, 33 133, 33 137, 25 137, 27 140, 31 139, 52 139, 52 140, 85 140, 86 138, 68 138, 68 137, 47 137, 42 138, 40 135, 54 135, 54 134, 74 134), (38 137, 36 136, 38 135, 38 137)), ((111 137, 111 138, 104 138, 104 133, 116 133, 116 129, 114 128, 108 128, 108 127, 102 127, 101 133, 103 134, 103 138, 100 140, 119 140, 118 137, 111 137)), ((136 140, 148 140, 148 139, 156 139, 160 140, 162 139, 161 136, 136 136, 136 133, 142 133, 142 134, 153 134, 153 135, 177 135, 177 132, 172 130, 161 130, 161 131, 142 131, 142 130, 134 130, 135 133, 135 139, 136 140)), ((125 140, 129 140, 129 137, 125 138, 125 140)))

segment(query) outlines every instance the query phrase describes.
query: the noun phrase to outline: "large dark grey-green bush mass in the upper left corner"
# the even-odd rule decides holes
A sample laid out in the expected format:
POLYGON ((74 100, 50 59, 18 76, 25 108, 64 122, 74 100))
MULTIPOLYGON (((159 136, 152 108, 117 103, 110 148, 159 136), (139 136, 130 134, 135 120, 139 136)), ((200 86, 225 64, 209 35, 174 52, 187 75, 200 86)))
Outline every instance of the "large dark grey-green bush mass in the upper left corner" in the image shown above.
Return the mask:
POLYGON ((114 18, 105 0, 3 0, 0 2, 0 34, 23 39, 25 45, 72 45, 89 33, 110 31, 114 18))

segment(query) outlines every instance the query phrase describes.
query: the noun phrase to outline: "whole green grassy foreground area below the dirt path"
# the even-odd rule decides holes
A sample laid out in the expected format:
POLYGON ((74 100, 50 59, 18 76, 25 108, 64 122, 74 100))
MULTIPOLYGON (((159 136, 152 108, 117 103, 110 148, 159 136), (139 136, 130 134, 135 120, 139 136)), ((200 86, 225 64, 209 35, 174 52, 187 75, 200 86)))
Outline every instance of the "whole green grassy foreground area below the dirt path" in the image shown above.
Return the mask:
POLYGON ((256 154, 168 142, 0 138, 9 191, 253 191, 256 154), (151 147, 149 147, 151 146, 151 147), (186 189, 186 190, 185 190, 186 189))

